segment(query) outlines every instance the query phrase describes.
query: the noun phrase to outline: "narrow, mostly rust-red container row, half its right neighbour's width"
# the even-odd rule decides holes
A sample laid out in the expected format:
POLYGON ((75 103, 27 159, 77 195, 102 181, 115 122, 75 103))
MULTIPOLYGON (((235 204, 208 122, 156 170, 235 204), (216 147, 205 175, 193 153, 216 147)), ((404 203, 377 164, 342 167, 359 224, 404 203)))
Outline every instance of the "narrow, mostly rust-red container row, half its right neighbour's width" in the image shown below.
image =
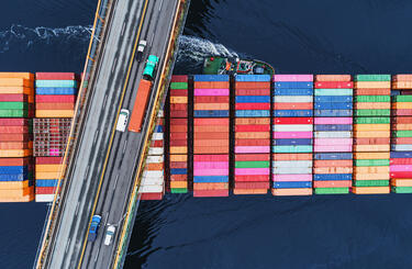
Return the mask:
POLYGON ((188 192, 188 76, 172 76, 169 89, 169 188, 188 192))

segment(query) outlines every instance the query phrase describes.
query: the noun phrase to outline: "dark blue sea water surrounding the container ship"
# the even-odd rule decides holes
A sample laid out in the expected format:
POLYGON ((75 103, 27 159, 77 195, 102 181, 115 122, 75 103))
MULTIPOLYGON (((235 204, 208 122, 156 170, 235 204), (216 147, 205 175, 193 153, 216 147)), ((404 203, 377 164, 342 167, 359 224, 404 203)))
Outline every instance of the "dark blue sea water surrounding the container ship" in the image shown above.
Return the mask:
MULTIPOLYGON (((82 70, 96 0, 0 9, 0 71, 82 70)), ((279 72, 412 72, 410 0, 192 0, 176 74, 202 57, 253 57, 279 72)), ((126 269, 412 268, 410 194, 166 195, 142 202, 126 269)), ((47 206, 0 204, 0 268, 31 268, 47 206)))

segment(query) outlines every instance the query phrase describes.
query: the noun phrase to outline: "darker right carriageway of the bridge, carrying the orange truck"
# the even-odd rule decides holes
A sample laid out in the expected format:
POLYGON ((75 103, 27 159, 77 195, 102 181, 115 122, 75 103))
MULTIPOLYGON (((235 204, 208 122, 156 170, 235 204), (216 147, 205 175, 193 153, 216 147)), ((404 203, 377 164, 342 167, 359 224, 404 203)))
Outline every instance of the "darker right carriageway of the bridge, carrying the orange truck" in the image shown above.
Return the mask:
MULTIPOLYGON (((146 40, 148 45, 143 57, 144 60, 135 60, 133 63, 131 79, 127 85, 122 108, 129 109, 130 111, 133 109, 138 82, 142 78, 145 59, 148 54, 159 56, 159 66, 163 65, 164 57, 162 56, 166 53, 176 7, 177 1, 149 1, 141 37, 141 40, 146 40)), ((157 75, 158 79, 159 74, 157 75)), ((157 89, 157 86, 158 81, 156 80, 153 89, 157 89)), ((148 109, 153 109, 154 99, 155 91, 153 90, 148 109)), ((144 132, 147 130, 147 125, 148 123, 146 121, 143 127, 144 132)), ((116 250, 120 227, 123 225, 126 202, 129 201, 129 194, 133 187, 133 180, 135 177, 134 172, 142 150, 142 134, 116 132, 114 135, 113 147, 110 153, 108 168, 94 212, 94 214, 102 215, 103 222, 97 240, 93 243, 87 243, 81 268, 108 268, 109 265, 113 262, 113 255, 116 250), (110 246, 105 246, 103 244, 104 233, 110 224, 116 226, 116 233, 114 242, 110 246)))

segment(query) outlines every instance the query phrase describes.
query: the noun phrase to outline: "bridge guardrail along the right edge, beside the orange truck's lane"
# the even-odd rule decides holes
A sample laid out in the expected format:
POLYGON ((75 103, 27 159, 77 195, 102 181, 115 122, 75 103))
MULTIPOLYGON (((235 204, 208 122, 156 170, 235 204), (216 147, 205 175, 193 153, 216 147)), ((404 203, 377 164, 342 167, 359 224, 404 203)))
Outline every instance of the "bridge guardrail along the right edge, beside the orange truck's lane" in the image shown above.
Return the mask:
POLYGON ((135 184, 133 187, 131 199, 127 205, 126 216, 124 218, 124 225, 122 227, 122 233, 120 236, 120 243, 119 243, 118 250, 114 257, 113 268, 121 268, 126 256, 129 239, 131 237, 130 233, 134 225, 135 211, 136 211, 136 206, 138 206, 138 202, 141 198, 141 194, 138 193, 138 188, 140 188, 140 183, 142 180, 141 171, 145 165, 145 159, 146 159, 147 152, 148 152, 148 146, 149 146, 148 138, 151 137, 155 128, 155 120, 160 109, 160 104, 165 101, 165 98, 166 98, 166 92, 167 92, 166 88, 168 87, 168 81, 171 76, 170 71, 172 70, 172 64, 175 63, 175 57, 176 57, 176 51, 177 51, 177 45, 178 45, 177 37, 181 33, 181 30, 182 30, 181 27, 187 15, 187 11, 189 9, 189 4, 190 4, 190 0, 179 0, 179 3, 178 3, 178 9, 177 9, 177 12, 174 19, 174 24, 172 24, 172 32, 170 34, 169 44, 168 44, 168 48, 167 48, 167 53, 165 57, 164 70, 162 72, 162 78, 160 78, 160 82, 158 86, 159 91, 156 93, 155 109, 151 115, 149 127, 145 135, 145 144, 143 146, 144 152, 143 152, 143 155, 141 156, 141 161, 136 170, 135 184))

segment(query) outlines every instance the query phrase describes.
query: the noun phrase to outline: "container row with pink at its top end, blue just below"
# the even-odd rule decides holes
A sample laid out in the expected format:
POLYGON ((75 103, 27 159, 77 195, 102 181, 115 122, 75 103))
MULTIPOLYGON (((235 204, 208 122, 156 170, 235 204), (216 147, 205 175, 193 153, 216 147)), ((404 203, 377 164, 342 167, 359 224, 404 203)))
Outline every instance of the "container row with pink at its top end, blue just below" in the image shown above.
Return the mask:
POLYGON ((313 75, 275 75, 272 194, 311 195, 313 75))

